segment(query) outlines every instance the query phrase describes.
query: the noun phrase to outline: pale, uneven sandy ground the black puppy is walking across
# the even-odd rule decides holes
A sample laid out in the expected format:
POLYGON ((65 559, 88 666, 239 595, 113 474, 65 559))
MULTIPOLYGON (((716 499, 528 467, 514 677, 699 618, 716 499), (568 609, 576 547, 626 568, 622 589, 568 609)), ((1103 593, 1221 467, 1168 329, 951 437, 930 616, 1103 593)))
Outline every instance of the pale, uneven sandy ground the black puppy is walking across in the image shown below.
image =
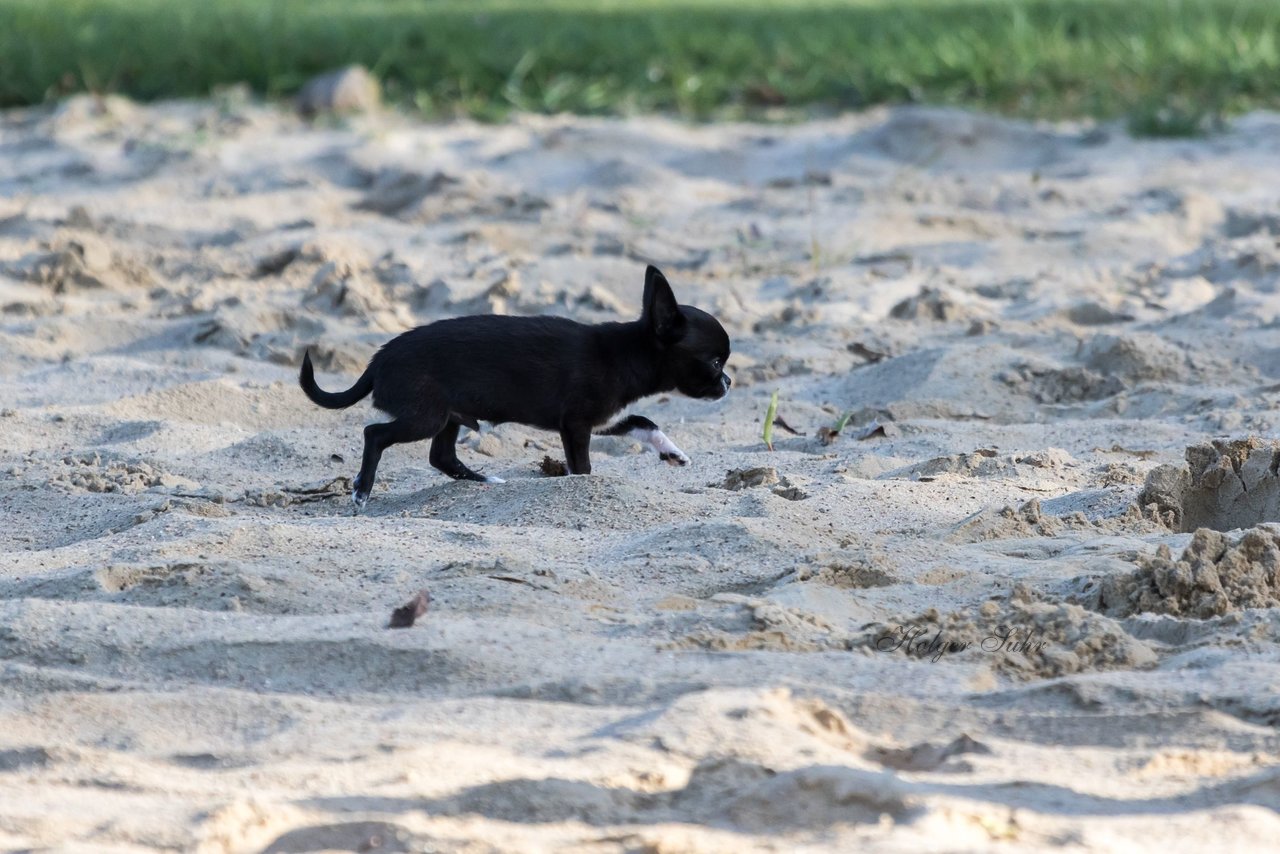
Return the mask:
POLYGON ((1277 138, 0 115, 0 846, 1275 845, 1277 138), (631 410, 690 467, 502 425, 353 515, 305 347, 649 261, 733 338, 631 410))

